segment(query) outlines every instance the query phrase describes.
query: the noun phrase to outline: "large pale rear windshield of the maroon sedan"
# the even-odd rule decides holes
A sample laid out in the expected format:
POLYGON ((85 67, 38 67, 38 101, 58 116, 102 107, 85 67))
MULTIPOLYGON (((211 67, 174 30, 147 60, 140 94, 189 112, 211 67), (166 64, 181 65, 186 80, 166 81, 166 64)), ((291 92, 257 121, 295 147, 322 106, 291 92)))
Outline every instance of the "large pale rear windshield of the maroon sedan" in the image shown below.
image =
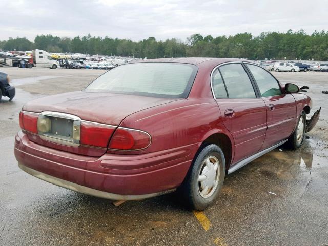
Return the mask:
POLYGON ((185 98, 196 73, 197 67, 191 64, 132 63, 101 75, 85 91, 185 98))

